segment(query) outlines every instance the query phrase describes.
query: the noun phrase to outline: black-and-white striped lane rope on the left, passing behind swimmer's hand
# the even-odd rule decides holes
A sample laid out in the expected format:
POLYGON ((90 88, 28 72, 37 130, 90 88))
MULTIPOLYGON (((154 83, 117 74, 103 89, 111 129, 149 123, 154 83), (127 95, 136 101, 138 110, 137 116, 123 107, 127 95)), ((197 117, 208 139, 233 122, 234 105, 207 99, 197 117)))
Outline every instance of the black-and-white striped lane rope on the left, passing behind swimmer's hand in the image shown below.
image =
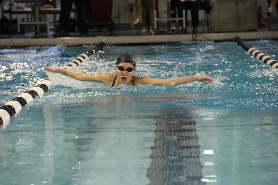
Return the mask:
MULTIPOLYGON (((83 61, 85 61, 90 55, 101 50, 104 45, 105 44, 103 42, 96 44, 94 47, 79 55, 76 59, 71 61, 70 64, 64 66, 63 68, 70 69, 80 66, 83 61)), ((52 82, 49 78, 47 78, 40 82, 36 87, 20 94, 0 107, 0 125, 9 120, 12 115, 19 112, 24 105, 32 101, 35 97, 45 94, 50 89, 51 85, 52 82)))

